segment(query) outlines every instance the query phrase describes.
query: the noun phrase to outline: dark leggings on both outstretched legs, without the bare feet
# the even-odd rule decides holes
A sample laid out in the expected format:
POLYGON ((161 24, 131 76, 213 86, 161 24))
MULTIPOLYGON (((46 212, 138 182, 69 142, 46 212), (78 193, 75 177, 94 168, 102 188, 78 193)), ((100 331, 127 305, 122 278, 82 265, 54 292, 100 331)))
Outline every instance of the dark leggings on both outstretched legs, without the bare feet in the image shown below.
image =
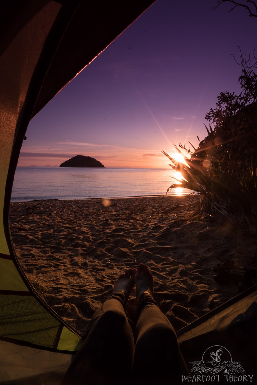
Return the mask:
POLYGON ((85 341, 61 385, 177 384, 187 367, 169 320, 153 297, 139 298, 133 336, 125 314, 126 297, 114 293, 90 321, 85 341))

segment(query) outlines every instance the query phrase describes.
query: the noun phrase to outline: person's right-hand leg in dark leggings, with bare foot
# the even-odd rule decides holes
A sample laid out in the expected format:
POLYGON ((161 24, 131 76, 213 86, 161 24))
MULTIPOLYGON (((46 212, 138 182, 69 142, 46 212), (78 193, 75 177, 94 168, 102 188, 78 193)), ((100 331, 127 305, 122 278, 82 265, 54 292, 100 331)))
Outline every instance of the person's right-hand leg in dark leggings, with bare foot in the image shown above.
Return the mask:
POLYGON ((135 275, 139 318, 135 329, 135 384, 178 384, 188 374, 177 336, 167 317, 152 297, 153 278, 140 264, 135 275))

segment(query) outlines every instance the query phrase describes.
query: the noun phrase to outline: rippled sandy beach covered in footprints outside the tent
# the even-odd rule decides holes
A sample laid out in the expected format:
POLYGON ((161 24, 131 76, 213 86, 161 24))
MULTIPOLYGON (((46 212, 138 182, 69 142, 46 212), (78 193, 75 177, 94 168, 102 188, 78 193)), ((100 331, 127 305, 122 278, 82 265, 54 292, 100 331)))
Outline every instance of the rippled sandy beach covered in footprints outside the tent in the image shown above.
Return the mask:
MULTIPOLYGON (((233 258, 236 267, 256 267, 254 235, 220 218, 197 221, 191 216, 193 207, 162 215, 191 199, 155 196, 12 203, 13 244, 32 285, 79 333, 85 333, 118 275, 140 262, 151 269, 154 298, 179 330, 237 295, 237 277, 217 283, 214 266, 233 258)), ((127 315, 133 327, 134 291, 127 315)))

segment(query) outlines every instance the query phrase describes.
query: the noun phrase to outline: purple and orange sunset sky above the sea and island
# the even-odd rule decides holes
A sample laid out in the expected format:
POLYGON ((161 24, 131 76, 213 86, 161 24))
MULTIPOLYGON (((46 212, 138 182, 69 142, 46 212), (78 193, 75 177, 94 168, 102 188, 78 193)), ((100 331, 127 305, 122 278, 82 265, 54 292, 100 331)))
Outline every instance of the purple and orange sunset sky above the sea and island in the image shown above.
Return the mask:
POLYGON ((80 154, 105 167, 167 168, 162 150, 172 154, 173 142, 197 147, 217 95, 240 92, 231 54, 252 55, 256 41, 256 18, 215 5, 157 0, 33 118, 18 166, 80 154))

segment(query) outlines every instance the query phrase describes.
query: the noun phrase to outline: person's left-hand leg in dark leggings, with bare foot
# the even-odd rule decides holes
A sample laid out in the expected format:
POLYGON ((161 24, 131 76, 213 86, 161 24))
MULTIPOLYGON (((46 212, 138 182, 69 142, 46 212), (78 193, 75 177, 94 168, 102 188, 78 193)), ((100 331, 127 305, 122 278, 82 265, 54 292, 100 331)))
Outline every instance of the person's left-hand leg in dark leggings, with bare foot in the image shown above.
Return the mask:
POLYGON ((61 385, 129 383, 134 338, 125 314, 125 303, 135 285, 134 277, 135 269, 119 276, 112 296, 93 315, 85 341, 61 385))

